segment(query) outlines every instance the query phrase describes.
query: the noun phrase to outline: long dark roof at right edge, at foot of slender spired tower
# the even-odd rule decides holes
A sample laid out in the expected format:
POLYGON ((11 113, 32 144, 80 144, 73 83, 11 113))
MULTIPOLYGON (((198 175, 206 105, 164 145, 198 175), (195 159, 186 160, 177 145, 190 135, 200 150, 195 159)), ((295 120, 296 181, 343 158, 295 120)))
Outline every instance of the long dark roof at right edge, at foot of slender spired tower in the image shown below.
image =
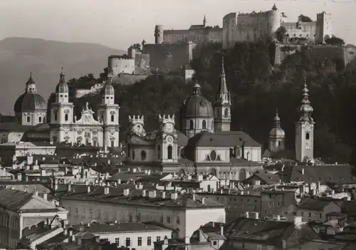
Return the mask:
POLYGON ((283 181, 288 183, 356 184, 354 169, 350 165, 298 165, 286 166, 281 174, 283 181))

